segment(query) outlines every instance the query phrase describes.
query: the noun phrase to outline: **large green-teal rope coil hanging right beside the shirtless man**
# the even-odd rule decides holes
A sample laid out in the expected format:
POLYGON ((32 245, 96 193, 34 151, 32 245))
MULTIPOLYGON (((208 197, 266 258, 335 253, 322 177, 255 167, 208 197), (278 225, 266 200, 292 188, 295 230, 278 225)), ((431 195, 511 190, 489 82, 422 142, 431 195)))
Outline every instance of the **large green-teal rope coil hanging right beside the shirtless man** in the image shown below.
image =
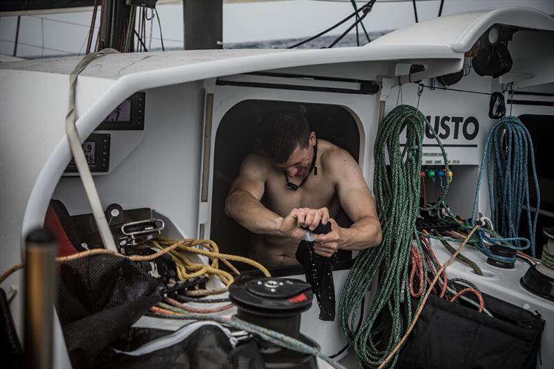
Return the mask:
MULTIPOLYGON (((415 218, 419 210, 422 141, 427 124, 425 116, 415 107, 400 105, 386 116, 377 131, 373 190, 383 240, 379 247, 359 253, 339 300, 343 334, 365 366, 379 366, 412 320, 408 267, 412 240, 423 255, 415 218), (404 128, 407 129, 407 140, 402 148, 400 132, 404 128), (387 170, 386 154, 390 170, 387 170), (356 334, 355 316, 359 304, 381 266, 382 278, 379 278, 368 314, 356 334), (386 334, 382 336, 382 321, 386 317, 391 321, 390 338, 385 337, 386 334)), ((427 281, 424 283, 426 289, 427 281)), ((418 306, 420 303, 421 298, 418 306)), ((395 354, 389 365, 394 366, 397 358, 395 354)))

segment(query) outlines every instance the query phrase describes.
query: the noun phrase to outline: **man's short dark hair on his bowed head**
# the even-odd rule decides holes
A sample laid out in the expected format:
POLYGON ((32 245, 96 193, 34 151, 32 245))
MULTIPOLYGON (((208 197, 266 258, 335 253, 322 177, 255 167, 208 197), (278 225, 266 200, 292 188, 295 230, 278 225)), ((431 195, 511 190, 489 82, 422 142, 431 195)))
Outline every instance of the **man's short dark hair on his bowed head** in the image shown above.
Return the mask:
POLYGON ((310 141, 312 131, 302 109, 278 111, 262 124, 263 149, 275 163, 285 163, 296 145, 304 148, 310 141))

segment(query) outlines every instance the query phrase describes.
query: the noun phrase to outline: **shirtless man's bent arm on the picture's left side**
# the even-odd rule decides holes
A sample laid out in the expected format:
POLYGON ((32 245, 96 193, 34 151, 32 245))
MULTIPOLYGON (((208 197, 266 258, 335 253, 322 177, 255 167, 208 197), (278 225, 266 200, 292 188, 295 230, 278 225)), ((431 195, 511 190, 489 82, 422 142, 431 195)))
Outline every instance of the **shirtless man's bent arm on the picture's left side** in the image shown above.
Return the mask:
POLYGON ((304 231, 298 226, 303 225, 298 224, 298 217, 303 217, 302 209, 293 209, 283 218, 260 202, 264 195, 268 170, 268 163, 262 156, 247 156, 225 200, 225 213, 252 233, 301 240, 304 231))

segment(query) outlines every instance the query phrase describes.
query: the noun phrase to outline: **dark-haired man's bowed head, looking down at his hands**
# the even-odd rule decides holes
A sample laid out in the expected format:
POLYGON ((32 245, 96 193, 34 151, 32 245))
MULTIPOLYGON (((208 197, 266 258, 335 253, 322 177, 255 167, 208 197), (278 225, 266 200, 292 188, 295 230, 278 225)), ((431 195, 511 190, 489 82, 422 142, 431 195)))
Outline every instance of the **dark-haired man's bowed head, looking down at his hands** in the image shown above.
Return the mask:
POLYGON ((310 172, 316 135, 301 109, 287 109, 271 116, 263 127, 265 154, 289 177, 310 172))

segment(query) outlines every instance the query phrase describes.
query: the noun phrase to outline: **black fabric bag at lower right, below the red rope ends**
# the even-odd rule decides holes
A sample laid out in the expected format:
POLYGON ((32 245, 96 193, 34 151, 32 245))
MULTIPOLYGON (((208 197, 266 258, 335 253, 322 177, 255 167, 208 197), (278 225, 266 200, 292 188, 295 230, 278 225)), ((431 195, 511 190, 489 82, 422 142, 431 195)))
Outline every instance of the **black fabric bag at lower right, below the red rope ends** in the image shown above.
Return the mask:
MULTIPOLYGON (((465 296, 474 300, 472 294, 465 296)), ((536 368, 540 315, 486 294, 483 300, 494 318, 465 302, 430 295, 400 351, 397 368, 536 368)), ((417 303, 413 306, 415 311, 417 303)))

